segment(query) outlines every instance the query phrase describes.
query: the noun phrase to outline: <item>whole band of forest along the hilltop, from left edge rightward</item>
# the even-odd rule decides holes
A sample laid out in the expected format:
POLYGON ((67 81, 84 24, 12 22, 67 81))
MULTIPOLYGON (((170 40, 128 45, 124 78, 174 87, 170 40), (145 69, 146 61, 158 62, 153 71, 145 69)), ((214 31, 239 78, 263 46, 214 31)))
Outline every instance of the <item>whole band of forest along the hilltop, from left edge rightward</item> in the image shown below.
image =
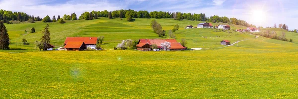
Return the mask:
MULTIPOLYGON (((91 12, 84 12, 79 17, 75 13, 71 15, 63 15, 63 20, 77 20, 77 19, 85 19, 85 20, 92 20, 97 19, 99 17, 109 17, 109 18, 173 18, 175 20, 196 20, 196 21, 206 21, 206 22, 223 22, 227 24, 236 24, 242 26, 252 26, 256 27, 252 24, 248 24, 244 20, 240 20, 237 18, 228 18, 226 16, 220 17, 218 15, 206 17, 205 13, 200 14, 193 14, 193 13, 182 13, 182 12, 165 12, 165 11, 134 11, 134 10, 115 10, 115 11, 91 11, 91 12)), ((10 23, 9 21, 43 21, 43 22, 52 22, 52 20, 56 21, 55 16, 52 19, 47 15, 44 20, 39 18, 39 16, 34 17, 28 15, 23 12, 12 12, 6 10, 0 10, 0 20, 3 20, 5 23, 10 23)), ((58 15, 57 20, 60 19, 60 15, 58 15)), ((130 20, 129 19, 129 20, 130 20)), ((128 21, 129 21, 128 20, 128 21)))

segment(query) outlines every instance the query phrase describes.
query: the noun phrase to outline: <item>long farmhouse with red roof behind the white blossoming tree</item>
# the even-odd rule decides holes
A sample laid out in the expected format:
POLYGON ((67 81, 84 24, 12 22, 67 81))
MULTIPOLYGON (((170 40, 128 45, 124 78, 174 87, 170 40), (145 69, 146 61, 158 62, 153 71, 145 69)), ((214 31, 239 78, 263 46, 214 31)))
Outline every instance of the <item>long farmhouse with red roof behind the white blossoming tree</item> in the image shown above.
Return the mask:
POLYGON ((186 47, 183 47, 176 39, 140 39, 139 44, 136 45, 137 50, 141 51, 150 51, 152 50, 152 45, 157 45, 159 50, 164 49, 161 47, 161 43, 170 42, 170 50, 184 50, 186 47))

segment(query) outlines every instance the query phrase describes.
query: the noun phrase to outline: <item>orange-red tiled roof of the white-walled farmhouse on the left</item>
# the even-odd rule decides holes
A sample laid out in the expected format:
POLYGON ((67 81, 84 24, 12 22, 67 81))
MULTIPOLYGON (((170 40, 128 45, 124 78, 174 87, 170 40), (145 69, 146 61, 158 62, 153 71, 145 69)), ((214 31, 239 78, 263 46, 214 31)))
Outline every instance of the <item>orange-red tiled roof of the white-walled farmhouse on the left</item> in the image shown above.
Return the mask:
POLYGON ((66 37, 64 44, 67 42, 84 42, 85 44, 96 44, 97 37, 66 37))

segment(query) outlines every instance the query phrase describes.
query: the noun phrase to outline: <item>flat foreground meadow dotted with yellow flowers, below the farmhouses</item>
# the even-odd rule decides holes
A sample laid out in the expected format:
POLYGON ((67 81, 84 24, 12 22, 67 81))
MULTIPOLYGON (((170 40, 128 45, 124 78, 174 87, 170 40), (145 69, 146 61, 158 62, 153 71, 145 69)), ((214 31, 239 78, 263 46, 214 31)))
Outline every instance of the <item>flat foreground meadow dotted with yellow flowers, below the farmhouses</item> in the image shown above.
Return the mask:
POLYGON ((297 98, 297 56, 241 47, 0 52, 0 98, 297 98))

